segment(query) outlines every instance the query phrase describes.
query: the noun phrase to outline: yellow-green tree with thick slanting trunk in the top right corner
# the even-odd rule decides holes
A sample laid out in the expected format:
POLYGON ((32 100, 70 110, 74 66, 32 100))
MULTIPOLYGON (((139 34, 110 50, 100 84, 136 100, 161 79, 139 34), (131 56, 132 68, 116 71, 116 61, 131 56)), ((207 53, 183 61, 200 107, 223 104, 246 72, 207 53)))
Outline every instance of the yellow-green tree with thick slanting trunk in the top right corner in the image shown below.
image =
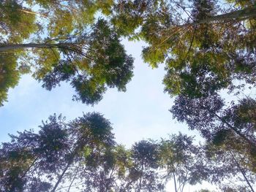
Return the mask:
MULTIPOLYGON (((182 89, 180 84, 184 78, 181 72, 203 68, 202 65, 206 64, 208 73, 224 78, 224 75, 228 77, 231 74, 225 74, 227 63, 233 63, 236 56, 243 56, 242 53, 234 53, 235 50, 245 48, 248 51, 247 58, 252 57, 255 5, 252 1, 234 1, 230 6, 226 5, 229 12, 221 15, 225 9, 217 6, 217 2, 120 1, 113 23, 120 26, 121 34, 148 43, 149 46, 143 50, 146 62, 152 66, 166 63, 167 72, 173 74, 173 78, 168 79, 167 76, 165 80, 169 83, 165 84, 168 91, 176 94, 182 89), (234 4, 239 7, 233 7, 234 4), (134 24, 124 28, 132 20, 134 24), (246 26, 241 20, 246 22, 246 26), (223 71, 219 71, 218 67, 223 71)), ((242 72, 236 69, 236 73, 242 72)))

